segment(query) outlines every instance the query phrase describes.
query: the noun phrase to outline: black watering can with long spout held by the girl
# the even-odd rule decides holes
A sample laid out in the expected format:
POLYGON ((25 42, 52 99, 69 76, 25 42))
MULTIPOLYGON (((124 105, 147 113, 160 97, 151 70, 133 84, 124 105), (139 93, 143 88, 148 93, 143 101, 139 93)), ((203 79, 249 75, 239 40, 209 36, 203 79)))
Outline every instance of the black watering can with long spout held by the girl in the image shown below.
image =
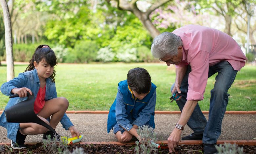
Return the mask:
MULTIPOLYGON (((41 120, 34 112, 34 100, 35 95, 32 92, 32 95, 28 92, 28 99, 22 102, 19 102, 5 110, 5 117, 8 123, 36 123, 42 125, 53 133, 56 131, 43 120, 41 120)), ((18 94, 9 96, 9 98, 19 97, 18 94)))

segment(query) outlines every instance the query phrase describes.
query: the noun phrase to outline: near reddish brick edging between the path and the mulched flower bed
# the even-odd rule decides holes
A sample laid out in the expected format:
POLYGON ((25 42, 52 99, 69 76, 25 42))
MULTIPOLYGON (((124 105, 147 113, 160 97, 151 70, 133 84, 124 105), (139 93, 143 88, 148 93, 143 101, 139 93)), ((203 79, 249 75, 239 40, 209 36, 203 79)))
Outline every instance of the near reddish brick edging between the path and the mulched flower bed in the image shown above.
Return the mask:
MULTIPOLYGON (((237 145, 251 145, 251 146, 255 146, 256 145, 256 140, 218 140, 217 144, 224 144, 224 143, 231 143, 231 144, 237 144, 237 145)), ((36 144, 36 143, 25 143, 25 144, 36 144)), ((79 142, 79 143, 75 143, 75 144, 116 144, 116 145, 126 145, 126 144, 132 144, 134 145, 135 142, 128 142, 128 143, 120 143, 120 142, 79 142)), ((157 144, 167 144, 166 140, 163 141, 157 141, 157 144)), ((179 145, 181 144, 185 144, 185 145, 201 145, 202 140, 197 140, 197 141, 193 141, 193 140, 187 140, 187 141, 180 141, 179 145)), ((0 145, 10 145, 9 143, 0 143, 0 145)))

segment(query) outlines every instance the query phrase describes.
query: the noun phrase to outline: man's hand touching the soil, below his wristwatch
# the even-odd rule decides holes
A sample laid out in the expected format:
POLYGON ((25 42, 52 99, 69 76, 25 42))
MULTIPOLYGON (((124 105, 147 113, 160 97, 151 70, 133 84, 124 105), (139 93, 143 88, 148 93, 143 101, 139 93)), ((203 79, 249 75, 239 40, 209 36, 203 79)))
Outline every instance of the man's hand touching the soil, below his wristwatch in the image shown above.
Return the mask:
POLYGON ((174 147, 176 147, 179 144, 181 139, 181 132, 182 130, 174 128, 174 130, 170 134, 168 138, 168 147, 169 147, 170 153, 174 152, 175 151, 174 147))

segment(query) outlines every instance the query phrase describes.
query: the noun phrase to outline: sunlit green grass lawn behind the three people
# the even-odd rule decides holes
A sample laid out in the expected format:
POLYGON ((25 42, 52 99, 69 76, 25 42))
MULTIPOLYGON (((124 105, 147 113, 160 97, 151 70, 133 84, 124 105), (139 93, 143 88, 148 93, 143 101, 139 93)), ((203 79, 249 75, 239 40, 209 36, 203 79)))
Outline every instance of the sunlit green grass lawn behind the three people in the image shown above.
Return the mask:
MULTIPOLYGON (((15 76, 27 65, 15 65, 15 76)), ((143 67, 157 86, 156 110, 179 111, 177 104, 169 103, 170 87, 175 81, 175 67, 165 63, 110 63, 110 64, 58 64, 56 87, 58 96, 69 100, 68 110, 109 110, 116 94, 117 84, 125 80, 129 69, 143 67)), ((0 85, 6 82, 6 66, 0 66, 0 85)), ((202 110, 209 110, 210 90, 215 75, 208 79, 204 100, 199 102, 202 110)), ((238 72, 229 89, 227 110, 256 110, 256 67, 248 66, 238 72)), ((0 110, 4 110, 8 97, 0 95, 0 110)))

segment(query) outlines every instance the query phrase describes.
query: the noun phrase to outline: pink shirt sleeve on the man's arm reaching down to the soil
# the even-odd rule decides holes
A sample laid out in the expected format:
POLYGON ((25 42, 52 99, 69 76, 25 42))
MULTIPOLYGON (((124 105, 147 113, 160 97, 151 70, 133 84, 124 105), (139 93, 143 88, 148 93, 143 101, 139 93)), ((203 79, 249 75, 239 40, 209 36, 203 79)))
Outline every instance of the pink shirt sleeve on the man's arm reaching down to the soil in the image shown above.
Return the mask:
POLYGON ((209 72, 209 53, 199 51, 191 58, 187 100, 203 100, 209 72))

